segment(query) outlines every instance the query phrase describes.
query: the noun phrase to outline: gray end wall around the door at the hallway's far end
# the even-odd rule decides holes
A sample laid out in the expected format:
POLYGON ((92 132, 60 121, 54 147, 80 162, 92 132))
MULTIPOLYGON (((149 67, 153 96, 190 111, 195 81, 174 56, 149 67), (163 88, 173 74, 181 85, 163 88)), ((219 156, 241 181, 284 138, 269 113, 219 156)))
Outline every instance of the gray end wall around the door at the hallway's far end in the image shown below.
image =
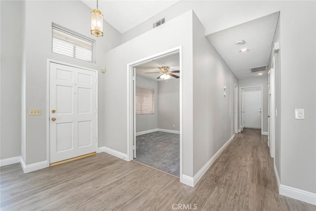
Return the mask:
MULTIPOLYGON (((267 77, 259 77, 257 79, 245 79, 238 81, 238 87, 245 87, 245 86, 255 86, 255 85, 262 85, 262 94, 263 94, 263 101, 262 101, 262 118, 263 118, 263 129, 262 131, 268 132, 268 96, 269 96, 269 89, 268 89, 268 78, 267 77)), ((238 111, 239 112, 239 111, 238 111)), ((240 118, 240 115, 239 115, 240 118)), ((238 118, 238 129, 240 129, 240 120, 238 118)))

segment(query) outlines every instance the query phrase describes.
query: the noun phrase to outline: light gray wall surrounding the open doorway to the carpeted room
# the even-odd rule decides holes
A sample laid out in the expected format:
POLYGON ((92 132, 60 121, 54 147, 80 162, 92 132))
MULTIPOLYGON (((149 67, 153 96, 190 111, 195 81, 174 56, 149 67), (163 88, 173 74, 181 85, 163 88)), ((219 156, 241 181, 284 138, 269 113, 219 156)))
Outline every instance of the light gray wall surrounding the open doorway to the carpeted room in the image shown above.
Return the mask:
POLYGON ((128 63, 182 46, 183 173, 193 176, 192 11, 188 11, 105 54, 107 73, 102 92, 105 113, 105 146, 127 154, 127 68, 128 63), (186 24, 183 24, 186 23, 186 24), (168 32, 168 33, 165 33, 168 32), (186 35, 186 36, 184 36, 186 35), (116 90, 113 92, 112 90, 116 90), (119 132, 118 132, 119 131, 119 132))

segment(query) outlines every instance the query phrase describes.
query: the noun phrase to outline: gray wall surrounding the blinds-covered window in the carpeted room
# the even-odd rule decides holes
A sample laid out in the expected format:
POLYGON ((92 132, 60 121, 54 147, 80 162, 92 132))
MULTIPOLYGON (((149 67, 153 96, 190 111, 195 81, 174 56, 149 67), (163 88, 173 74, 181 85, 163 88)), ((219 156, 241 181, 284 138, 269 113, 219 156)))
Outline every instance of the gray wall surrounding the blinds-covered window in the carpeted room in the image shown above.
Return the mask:
POLYGON ((158 82, 136 76, 136 86, 154 88, 154 114, 136 115, 136 132, 158 128, 158 82))

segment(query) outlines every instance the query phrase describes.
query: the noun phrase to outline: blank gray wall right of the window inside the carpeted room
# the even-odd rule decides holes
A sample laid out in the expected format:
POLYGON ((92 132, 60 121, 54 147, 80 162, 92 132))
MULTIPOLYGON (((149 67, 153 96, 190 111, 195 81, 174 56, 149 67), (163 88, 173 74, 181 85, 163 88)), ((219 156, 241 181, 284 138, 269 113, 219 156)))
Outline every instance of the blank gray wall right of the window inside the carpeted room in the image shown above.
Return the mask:
POLYGON ((158 128, 180 130, 179 79, 158 82, 158 128))

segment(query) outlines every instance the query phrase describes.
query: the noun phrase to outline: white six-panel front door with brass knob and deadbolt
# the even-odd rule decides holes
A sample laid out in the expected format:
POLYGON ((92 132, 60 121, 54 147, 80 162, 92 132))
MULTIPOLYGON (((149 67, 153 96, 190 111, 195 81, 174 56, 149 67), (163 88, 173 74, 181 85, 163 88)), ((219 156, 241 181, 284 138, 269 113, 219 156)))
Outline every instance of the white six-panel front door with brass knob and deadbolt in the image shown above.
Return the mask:
POLYGON ((96 151, 96 72, 50 63, 50 163, 96 151))

